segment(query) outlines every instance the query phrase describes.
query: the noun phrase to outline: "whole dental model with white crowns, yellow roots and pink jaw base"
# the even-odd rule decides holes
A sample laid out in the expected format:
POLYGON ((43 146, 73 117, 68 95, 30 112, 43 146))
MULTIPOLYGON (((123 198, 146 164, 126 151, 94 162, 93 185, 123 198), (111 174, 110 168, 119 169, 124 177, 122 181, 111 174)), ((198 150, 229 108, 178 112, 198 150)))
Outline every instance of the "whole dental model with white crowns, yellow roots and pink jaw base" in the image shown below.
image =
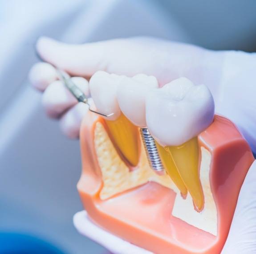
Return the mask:
POLYGON ((100 71, 89 82, 97 110, 80 132, 77 184, 89 217, 154 253, 220 253, 253 155, 204 85, 100 71), (164 171, 148 163, 139 128, 154 137, 164 171))

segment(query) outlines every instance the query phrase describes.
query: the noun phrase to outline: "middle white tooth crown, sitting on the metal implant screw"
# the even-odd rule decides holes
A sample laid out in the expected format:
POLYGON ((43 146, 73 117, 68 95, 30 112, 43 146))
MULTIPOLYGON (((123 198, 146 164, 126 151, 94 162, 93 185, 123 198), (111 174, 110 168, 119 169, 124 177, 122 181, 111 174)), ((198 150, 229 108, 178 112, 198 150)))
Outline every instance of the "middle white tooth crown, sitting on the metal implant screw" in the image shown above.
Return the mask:
POLYGON ((138 127, 146 127, 145 95, 151 88, 157 88, 154 76, 144 74, 125 77, 118 87, 118 103, 126 117, 138 127))

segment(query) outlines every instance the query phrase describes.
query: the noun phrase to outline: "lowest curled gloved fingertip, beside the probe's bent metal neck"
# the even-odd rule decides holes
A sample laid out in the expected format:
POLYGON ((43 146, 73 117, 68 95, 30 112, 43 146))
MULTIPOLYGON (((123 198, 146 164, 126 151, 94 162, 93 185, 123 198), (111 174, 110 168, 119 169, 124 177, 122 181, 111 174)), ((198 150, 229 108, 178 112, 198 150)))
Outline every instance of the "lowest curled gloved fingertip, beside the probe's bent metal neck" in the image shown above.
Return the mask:
POLYGON ((77 103, 60 119, 61 131, 70 139, 78 139, 81 121, 88 112, 88 105, 77 103))

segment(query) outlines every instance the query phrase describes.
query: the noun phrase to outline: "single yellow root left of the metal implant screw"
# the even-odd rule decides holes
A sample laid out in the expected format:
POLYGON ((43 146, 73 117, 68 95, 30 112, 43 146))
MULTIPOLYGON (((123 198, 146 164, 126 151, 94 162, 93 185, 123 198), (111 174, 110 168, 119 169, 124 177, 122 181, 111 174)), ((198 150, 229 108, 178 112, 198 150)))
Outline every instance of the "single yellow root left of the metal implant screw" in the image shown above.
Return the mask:
POLYGON ((137 166, 139 160, 138 127, 134 126, 123 114, 114 121, 105 120, 105 122, 115 147, 131 166, 137 166))

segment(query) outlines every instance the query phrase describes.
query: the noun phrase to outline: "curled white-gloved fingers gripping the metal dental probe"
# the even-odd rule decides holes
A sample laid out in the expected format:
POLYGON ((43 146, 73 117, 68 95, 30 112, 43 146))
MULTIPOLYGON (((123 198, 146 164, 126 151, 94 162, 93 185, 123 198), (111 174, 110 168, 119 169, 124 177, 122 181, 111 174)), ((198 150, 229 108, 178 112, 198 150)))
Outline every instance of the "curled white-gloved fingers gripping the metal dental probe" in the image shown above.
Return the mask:
MULTIPOLYGON (((67 90, 65 85, 57 80, 57 71, 49 63, 35 64, 29 73, 30 82, 39 91, 44 92, 42 103, 47 115, 60 119, 62 132, 69 138, 78 138, 81 120, 88 110, 84 103, 67 90)), ((72 77, 73 82, 89 96, 89 83, 82 77, 72 77)))

